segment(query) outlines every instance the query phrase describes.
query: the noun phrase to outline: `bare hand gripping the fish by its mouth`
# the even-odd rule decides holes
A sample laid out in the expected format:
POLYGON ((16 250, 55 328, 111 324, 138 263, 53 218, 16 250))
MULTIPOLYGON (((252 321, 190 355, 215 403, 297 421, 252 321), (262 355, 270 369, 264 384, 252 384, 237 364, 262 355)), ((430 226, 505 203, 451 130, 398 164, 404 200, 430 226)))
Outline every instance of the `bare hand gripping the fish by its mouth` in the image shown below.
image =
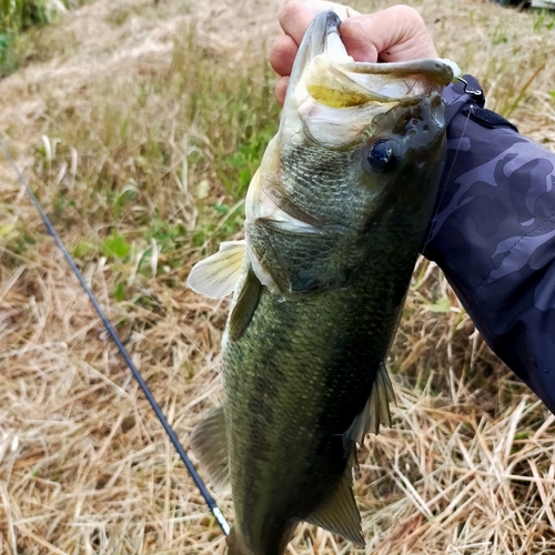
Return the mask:
POLYGON ((299 44, 314 16, 334 10, 342 19, 340 34, 347 53, 362 62, 401 62, 418 58, 437 58, 434 42, 421 14, 408 6, 394 6, 375 13, 359 13, 340 3, 323 0, 292 0, 281 14, 280 24, 285 34, 275 39, 270 51, 270 63, 281 75, 275 84, 275 99, 285 100, 289 75, 299 44))

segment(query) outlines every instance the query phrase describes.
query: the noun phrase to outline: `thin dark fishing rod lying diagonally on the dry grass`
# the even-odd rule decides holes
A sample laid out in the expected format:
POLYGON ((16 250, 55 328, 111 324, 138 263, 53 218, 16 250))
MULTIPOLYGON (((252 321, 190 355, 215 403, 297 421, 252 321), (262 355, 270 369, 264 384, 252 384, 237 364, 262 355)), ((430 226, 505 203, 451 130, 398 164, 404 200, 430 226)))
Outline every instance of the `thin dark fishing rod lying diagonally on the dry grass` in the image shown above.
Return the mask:
POLYGON ((114 342, 115 346, 118 347, 118 351, 120 352, 121 356, 123 357, 127 365, 131 370, 133 377, 139 383, 139 386, 141 387, 142 392, 144 393, 144 396, 149 401, 150 405, 152 406, 152 410, 157 414, 158 420, 160 421, 165 433, 170 437, 170 441, 173 443, 175 451, 178 452, 179 456, 181 457, 181 461, 183 461, 183 464, 185 465, 186 470, 189 471, 189 474, 191 475, 191 477, 193 478, 193 482, 196 485, 196 487, 199 488, 199 492, 201 493, 202 497, 204 498, 208 507, 210 508, 211 513, 214 515, 214 518, 216 519, 218 524, 222 528, 222 532, 228 536, 230 534, 230 525, 228 524, 228 521, 223 516, 223 513, 220 511, 220 507, 218 506, 215 500, 210 494, 206 485, 204 484, 202 478, 199 476, 196 468, 193 466, 193 463, 189 458, 189 455, 186 454, 185 450, 183 448, 183 445, 181 445, 181 443, 178 438, 178 435, 175 434, 173 427, 168 422, 168 418, 165 417, 164 413, 160 408, 160 405, 158 404, 157 400, 154 398, 154 395, 150 391, 150 387, 147 385, 147 382, 142 377, 141 373, 139 372, 139 369, 134 365, 127 349, 123 346, 123 343, 121 342, 121 340, 118 335, 118 332, 114 330, 112 323, 110 322, 108 316, 104 314, 104 311, 102 310, 99 302, 97 301, 94 293, 91 291, 91 289, 89 287, 89 285, 84 281, 84 278, 81 274, 81 272, 79 271, 79 268, 77 268, 73 259, 71 258, 71 254, 68 252, 68 250, 65 249, 65 245, 63 244, 62 240, 60 239, 60 235, 58 235, 52 223, 50 222, 47 214, 42 210, 42 206, 40 205, 40 202, 37 200, 37 196, 34 196, 34 193, 32 192, 31 186, 29 185, 27 180, 23 178, 23 174, 19 171, 19 168, 17 167, 14 160, 11 158, 11 154, 8 151, 8 148, 6 147, 2 139, 0 139, 0 147, 2 148, 2 151, 3 151, 8 162, 10 163, 13 171, 16 172, 19 182, 23 184, 27 193, 31 198, 31 201, 34 204, 34 208, 37 209, 42 221, 44 222, 44 225, 47 228, 48 233, 50 235, 52 235, 52 238, 54 239, 56 244, 58 245, 58 248, 60 249, 60 251, 63 254, 63 258, 67 260, 71 270, 75 274, 75 278, 78 279, 79 284, 81 285, 83 291, 89 296, 89 300, 91 301, 92 305, 94 306, 97 314, 100 316, 100 320, 102 321, 102 324, 104 325, 105 331, 110 335, 111 340, 114 342))

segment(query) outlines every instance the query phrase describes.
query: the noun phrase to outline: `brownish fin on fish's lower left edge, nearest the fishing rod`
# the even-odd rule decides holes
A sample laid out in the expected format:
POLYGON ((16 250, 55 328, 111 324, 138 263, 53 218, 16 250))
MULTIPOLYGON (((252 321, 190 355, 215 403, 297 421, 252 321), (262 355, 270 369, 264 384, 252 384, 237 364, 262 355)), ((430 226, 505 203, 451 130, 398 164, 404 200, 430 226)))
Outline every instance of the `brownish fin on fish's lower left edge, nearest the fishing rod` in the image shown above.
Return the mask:
POLYGON ((223 406, 210 411, 196 425, 190 445, 214 490, 219 492, 229 490, 228 436, 223 406))

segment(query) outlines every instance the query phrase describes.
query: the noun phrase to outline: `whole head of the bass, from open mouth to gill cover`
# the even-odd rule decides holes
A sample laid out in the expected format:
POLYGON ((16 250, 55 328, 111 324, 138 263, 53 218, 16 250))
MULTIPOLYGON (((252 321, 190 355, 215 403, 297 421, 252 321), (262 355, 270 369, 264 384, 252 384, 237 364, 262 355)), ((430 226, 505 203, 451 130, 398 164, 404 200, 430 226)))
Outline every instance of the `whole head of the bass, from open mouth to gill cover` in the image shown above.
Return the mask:
POLYGON ((340 26, 327 11, 306 31, 246 198, 249 258, 284 299, 344 283, 394 220, 412 218, 404 232, 422 242, 445 158, 442 91, 456 64, 356 62, 340 26))

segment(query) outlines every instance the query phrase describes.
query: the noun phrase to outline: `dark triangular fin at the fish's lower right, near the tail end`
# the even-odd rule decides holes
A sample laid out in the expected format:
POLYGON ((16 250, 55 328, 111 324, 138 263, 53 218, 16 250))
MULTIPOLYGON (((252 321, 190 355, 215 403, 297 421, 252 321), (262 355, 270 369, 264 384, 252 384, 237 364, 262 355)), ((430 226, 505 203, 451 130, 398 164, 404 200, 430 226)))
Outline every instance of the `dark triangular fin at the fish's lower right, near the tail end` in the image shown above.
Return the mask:
POLYGON ((352 485, 351 465, 347 464, 346 471, 332 495, 305 521, 339 534, 353 544, 364 545, 361 514, 354 501, 352 485))

